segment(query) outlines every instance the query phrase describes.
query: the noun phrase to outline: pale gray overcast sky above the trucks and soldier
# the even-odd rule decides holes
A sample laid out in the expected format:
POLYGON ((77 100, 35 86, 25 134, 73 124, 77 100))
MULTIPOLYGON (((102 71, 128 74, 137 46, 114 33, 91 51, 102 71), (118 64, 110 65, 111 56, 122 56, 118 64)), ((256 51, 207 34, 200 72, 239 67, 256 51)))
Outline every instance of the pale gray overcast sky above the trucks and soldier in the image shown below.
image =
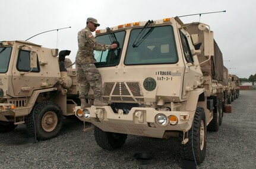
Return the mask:
POLYGON ((71 50, 75 61, 77 32, 94 17, 98 29, 188 14, 224 11, 182 17, 184 23, 200 21, 210 25, 230 74, 248 78, 256 73, 255 0, 8 0, 0 6, 0 41, 26 40, 43 31, 71 27, 37 35, 29 41, 48 48, 71 50), (227 61, 226 61, 227 60, 227 61), (230 61, 228 61, 230 60, 230 61))

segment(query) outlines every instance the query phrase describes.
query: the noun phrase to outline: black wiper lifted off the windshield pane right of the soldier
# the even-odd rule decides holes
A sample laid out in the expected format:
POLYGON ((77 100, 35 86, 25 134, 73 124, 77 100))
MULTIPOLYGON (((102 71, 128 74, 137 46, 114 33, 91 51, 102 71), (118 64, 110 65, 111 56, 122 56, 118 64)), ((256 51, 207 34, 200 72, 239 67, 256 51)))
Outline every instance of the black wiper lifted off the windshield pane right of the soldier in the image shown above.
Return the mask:
POLYGON ((148 20, 146 22, 146 24, 144 25, 144 27, 142 28, 142 30, 138 33, 137 37, 135 38, 134 43, 132 44, 132 47, 138 47, 146 38, 147 36, 154 30, 154 27, 151 27, 146 34, 144 35, 144 32, 146 31, 146 28, 148 28, 148 26, 150 24, 152 24, 154 21, 153 20, 148 20), (142 32, 142 33, 141 33, 142 32), (144 36, 143 36, 144 35, 144 36), (138 40, 137 40, 138 39, 138 40))

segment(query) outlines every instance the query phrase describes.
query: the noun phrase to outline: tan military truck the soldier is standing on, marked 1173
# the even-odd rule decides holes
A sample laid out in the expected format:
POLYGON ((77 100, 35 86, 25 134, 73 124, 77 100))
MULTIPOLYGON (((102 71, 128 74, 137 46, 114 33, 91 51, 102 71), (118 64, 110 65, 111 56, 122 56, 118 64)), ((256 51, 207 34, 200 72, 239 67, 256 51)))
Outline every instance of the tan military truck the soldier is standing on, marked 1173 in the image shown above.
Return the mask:
POLYGON ((202 163, 206 130, 217 131, 223 113, 222 53, 210 27, 165 18, 97 30, 96 40, 119 44, 94 52, 109 106, 75 108, 94 125, 97 144, 119 148, 128 134, 179 137, 182 159, 202 163))

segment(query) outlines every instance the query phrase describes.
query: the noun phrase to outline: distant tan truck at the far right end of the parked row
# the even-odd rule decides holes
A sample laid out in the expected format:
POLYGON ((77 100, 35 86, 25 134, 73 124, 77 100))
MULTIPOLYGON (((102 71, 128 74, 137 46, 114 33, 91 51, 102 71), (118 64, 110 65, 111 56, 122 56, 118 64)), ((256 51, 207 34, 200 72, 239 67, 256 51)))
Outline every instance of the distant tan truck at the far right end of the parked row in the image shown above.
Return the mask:
POLYGON ((239 97, 240 82, 238 76, 229 74, 231 101, 239 97))

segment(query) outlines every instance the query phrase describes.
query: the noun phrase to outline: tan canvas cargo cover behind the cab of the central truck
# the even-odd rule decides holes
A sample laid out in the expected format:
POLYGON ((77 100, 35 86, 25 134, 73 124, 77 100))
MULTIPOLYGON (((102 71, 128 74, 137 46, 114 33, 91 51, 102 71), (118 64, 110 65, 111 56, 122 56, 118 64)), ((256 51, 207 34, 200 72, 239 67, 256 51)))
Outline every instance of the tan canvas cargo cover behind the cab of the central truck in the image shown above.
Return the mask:
MULTIPOLYGON (((204 55, 204 31, 198 29, 200 23, 196 22, 187 25, 187 31, 190 35, 198 34, 199 43, 201 43, 200 50, 201 54, 198 57, 199 63, 208 59, 208 56, 204 55)), ((206 29, 208 31, 208 29, 206 29)), ((223 82, 223 57, 216 41, 214 40, 214 56, 211 56, 211 60, 201 64, 201 70, 204 76, 210 75, 214 80, 223 82)))

